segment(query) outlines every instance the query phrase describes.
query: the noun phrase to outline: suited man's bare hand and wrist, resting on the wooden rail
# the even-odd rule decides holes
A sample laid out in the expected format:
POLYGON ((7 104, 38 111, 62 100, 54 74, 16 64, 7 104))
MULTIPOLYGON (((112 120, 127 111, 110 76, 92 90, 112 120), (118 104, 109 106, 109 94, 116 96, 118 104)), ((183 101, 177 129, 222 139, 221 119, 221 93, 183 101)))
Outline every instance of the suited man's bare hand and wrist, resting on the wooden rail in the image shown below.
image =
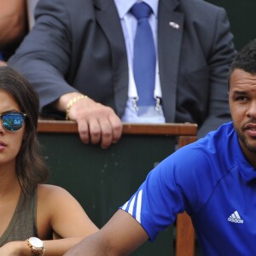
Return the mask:
MULTIPOLYGON (((80 95, 72 92, 61 96, 55 102, 55 108, 65 112, 67 103, 80 95)), ((108 148, 112 143, 117 143, 122 135, 122 122, 113 109, 90 98, 75 102, 68 116, 78 123, 79 136, 83 143, 101 143, 102 148, 108 148)))

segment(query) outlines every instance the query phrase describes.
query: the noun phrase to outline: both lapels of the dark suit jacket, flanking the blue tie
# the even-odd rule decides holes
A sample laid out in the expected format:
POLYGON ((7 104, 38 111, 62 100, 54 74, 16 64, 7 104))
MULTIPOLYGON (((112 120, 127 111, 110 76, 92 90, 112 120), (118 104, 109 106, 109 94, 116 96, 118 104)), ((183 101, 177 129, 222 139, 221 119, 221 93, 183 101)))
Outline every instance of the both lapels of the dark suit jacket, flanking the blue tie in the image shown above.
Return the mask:
MULTIPOLYGON (((175 121, 177 73, 183 35, 183 14, 175 12, 177 0, 159 0, 158 57, 163 108, 167 122, 175 121), (170 26, 170 22, 179 27, 170 26), (173 65, 174 63, 174 65, 173 65)), ((94 0, 96 20, 102 26, 113 58, 114 103, 119 116, 128 97, 128 61, 125 38, 113 0, 94 0)))

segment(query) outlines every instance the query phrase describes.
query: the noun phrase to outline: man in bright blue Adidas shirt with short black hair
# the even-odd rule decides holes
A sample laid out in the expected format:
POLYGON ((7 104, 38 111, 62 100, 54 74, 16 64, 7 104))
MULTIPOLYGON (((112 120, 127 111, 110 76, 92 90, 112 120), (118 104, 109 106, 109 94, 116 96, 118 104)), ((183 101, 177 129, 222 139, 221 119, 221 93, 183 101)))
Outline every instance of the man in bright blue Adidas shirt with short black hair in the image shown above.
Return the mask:
POLYGON ((188 212, 204 255, 256 255, 256 40, 229 73, 233 122, 163 160, 102 230, 65 255, 127 255, 188 212))

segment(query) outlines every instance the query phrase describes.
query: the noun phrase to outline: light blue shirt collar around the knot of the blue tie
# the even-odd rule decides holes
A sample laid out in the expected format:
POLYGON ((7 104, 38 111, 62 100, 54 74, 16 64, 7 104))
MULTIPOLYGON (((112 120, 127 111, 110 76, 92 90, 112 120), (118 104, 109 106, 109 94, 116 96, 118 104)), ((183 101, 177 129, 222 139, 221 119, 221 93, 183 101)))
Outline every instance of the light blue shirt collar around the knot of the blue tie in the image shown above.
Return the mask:
POLYGON ((119 13, 119 18, 123 19, 124 16, 129 12, 133 4, 137 2, 144 2, 148 3, 148 5, 153 10, 154 15, 157 17, 157 11, 158 11, 158 2, 159 0, 114 0, 114 3, 116 5, 116 8, 119 13))

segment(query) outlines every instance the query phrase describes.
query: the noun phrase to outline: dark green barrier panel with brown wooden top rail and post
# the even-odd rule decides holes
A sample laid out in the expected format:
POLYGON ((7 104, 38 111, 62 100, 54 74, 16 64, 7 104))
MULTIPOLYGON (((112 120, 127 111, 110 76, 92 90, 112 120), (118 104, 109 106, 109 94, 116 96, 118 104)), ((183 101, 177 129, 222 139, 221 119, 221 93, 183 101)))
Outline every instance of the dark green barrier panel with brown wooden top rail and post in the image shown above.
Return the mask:
MULTIPOLYGON (((119 143, 108 149, 80 142, 76 123, 39 120, 38 137, 51 171, 51 183, 70 191, 96 225, 102 227, 136 192, 148 172, 178 147, 195 142, 196 125, 124 124, 119 143)), ((160 233, 132 255, 192 256, 195 234, 189 216, 160 233), (175 232, 175 241, 173 237, 175 232)))

